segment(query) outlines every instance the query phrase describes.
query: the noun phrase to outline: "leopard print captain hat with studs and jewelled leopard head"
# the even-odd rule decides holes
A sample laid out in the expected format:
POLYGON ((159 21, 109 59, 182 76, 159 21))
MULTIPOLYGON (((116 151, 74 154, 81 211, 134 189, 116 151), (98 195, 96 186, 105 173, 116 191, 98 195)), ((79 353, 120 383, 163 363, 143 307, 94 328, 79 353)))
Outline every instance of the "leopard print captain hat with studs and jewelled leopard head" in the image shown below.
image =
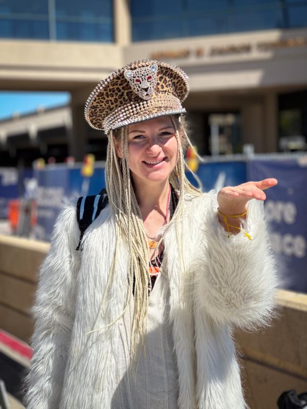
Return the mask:
POLYGON ((124 125, 185 113, 188 76, 174 65, 143 60, 130 63, 99 82, 86 101, 92 128, 108 133, 124 125))

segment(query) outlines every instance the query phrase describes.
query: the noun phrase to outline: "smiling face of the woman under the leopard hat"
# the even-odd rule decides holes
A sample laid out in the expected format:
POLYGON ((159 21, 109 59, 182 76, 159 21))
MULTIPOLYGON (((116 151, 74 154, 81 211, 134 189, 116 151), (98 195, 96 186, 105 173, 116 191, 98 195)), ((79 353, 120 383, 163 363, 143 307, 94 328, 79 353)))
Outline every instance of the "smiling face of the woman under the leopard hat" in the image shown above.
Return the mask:
POLYGON ((178 143, 169 116, 129 125, 129 168, 135 182, 162 182, 178 159, 178 143))

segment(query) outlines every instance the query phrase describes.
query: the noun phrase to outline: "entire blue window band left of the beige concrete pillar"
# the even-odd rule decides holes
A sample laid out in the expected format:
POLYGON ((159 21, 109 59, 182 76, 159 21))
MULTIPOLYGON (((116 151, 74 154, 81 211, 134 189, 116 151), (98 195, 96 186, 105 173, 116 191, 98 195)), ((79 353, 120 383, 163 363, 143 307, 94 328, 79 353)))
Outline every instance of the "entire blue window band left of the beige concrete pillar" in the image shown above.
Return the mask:
POLYGON ((0 38, 113 41, 113 0, 0 0, 0 38))

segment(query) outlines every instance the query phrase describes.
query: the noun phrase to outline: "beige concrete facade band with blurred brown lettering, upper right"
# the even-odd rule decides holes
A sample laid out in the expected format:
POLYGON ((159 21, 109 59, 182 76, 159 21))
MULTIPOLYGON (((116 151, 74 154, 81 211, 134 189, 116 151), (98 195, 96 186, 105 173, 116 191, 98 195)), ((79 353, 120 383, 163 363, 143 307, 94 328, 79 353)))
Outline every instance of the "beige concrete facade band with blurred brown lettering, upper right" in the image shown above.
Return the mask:
POLYGON ((298 29, 140 41, 124 48, 124 62, 154 58, 179 65, 192 92, 303 85, 306 38, 307 30, 298 29))

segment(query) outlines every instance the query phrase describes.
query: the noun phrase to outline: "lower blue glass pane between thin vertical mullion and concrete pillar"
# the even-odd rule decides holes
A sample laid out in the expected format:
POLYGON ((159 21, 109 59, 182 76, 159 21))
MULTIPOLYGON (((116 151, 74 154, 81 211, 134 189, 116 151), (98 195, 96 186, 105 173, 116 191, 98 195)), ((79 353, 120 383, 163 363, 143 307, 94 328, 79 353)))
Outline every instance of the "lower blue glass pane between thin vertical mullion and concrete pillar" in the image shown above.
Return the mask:
POLYGON ((93 22, 57 22, 56 37, 58 40, 72 41, 113 41, 113 25, 93 22))

